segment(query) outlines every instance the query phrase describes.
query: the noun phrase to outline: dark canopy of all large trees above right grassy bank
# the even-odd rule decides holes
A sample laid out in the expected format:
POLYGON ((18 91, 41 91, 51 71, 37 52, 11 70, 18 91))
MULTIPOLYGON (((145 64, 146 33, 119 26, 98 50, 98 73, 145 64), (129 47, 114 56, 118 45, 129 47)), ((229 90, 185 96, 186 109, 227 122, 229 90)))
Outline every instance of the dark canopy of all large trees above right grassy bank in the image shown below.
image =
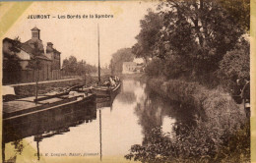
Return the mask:
POLYGON ((133 51, 137 57, 160 58, 167 78, 209 79, 248 25, 248 0, 162 1, 141 21, 133 51))

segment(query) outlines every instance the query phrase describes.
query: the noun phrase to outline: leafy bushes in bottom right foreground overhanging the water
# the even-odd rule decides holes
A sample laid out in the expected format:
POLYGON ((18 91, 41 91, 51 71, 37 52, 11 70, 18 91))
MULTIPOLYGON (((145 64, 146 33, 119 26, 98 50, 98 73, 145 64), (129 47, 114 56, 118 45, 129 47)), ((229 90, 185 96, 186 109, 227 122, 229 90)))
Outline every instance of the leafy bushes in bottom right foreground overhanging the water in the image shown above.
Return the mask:
POLYGON ((172 138, 162 133, 160 128, 153 129, 148 143, 133 145, 125 158, 143 163, 250 161, 249 122, 233 135, 208 128, 204 124, 190 130, 185 126, 175 126, 174 131, 177 129, 182 132, 176 132, 172 138))

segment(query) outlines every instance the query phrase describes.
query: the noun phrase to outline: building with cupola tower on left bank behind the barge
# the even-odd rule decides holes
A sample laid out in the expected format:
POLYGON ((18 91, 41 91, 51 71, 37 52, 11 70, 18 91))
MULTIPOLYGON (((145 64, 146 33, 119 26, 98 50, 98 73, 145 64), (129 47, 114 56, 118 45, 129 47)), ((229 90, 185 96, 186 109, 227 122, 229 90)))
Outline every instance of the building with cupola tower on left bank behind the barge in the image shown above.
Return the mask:
POLYGON ((36 78, 39 81, 60 79, 60 54, 51 42, 44 50, 37 27, 32 28, 32 38, 24 43, 4 38, 3 83, 31 82, 36 78), (35 69, 39 69, 37 74, 35 69))

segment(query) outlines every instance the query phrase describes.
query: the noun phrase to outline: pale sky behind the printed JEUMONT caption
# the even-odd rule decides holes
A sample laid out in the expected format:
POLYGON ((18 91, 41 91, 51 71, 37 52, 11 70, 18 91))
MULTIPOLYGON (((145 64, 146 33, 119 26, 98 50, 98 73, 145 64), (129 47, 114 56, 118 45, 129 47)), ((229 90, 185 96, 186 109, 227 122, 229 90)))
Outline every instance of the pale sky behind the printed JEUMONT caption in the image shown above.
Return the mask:
POLYGON ((34 2, 11 27, 5 37, 19 36, 22 42, 32 37, 32 27, 40 29, 44 46, 52 42, 61 52, 61 60, 75 56, 97 65, 97 25, 102 66, 109 64, 118 49, 132 47, 140 32, 140 20, 155 2, 34 2), (67 15, 113 15, 102 19, 67 19, 67 15), (50 15, 50 19, 28 19, 29 15, 50 15), (66 19, 58 19, 65 16, 66 19), (52 18, 55 17, 55 18, 52 18))

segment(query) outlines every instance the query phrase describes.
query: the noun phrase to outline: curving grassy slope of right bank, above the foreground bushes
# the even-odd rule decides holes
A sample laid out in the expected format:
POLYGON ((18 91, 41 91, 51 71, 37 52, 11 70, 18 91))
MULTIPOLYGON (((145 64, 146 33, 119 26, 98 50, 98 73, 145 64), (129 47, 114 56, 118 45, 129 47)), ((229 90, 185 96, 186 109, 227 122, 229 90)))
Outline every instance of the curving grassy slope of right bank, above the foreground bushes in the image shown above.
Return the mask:
POLYGON ((197 82, 180 80, 148 79, 147 82, 160 96, 193 105, 198 110, 204 111, 206 118, 211 121, 214 119, 219 122, 220 119, 224 119, 235 120, 238 123, 246 119, 242 105, 237 105, 221 88, 208 89, 197 82))

